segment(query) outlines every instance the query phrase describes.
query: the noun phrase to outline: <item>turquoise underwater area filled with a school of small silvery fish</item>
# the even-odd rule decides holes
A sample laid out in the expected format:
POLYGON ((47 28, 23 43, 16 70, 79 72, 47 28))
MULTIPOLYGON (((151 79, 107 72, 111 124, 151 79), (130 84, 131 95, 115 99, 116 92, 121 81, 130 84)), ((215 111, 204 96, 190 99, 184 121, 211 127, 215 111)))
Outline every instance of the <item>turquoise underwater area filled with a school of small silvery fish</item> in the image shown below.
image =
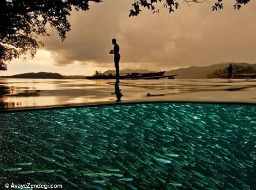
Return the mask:
POLYGON ((255 189, 256 106, 158 103, 1 113, 0 182, 255 189))

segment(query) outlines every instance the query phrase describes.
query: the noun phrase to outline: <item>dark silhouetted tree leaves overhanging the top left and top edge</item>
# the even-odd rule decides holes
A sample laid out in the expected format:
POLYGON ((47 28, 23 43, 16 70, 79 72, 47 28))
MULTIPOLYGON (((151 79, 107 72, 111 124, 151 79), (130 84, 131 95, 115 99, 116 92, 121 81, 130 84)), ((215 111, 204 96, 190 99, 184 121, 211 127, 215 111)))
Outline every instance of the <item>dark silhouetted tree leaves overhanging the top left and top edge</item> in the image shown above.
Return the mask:
MULTIPOLYGON (((76 11, 89 10, 89 2, 99 3, 101 0, 0 0, 0 70, 6 70, 6 63, 21 55, 33 57, 40 42, 37 35, 49 35, 46 25, 49 24, 58 31, 64 40, 70 31, 67 16, 72 8, 76 11)), ((129 16, 138 16, 142 8, 155 10, 157 3, 162 3, 169 12, 178 9, 180 2, 203 3, 205 0, 135 0, 129 16)), ((217 0, 212 10, 223 8, 223 1, 217 0)), ((250 0, 234 0, 234 9, 250 0)), ((25 57, 24 56, 24 57, 25 57)))

